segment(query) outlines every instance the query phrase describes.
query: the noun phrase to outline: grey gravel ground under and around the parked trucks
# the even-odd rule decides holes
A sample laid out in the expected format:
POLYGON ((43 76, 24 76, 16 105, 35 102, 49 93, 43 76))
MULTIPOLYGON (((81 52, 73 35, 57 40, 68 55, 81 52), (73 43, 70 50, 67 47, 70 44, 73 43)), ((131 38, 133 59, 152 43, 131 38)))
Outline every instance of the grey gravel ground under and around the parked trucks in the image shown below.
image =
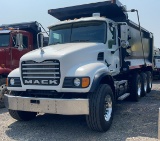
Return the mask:
POLYGON ((111 129, 97 133, 88 129, 84 116, 41 114, 32 121, 12 119, 0 109, 0 141, 158 141, 160 81, 139 102, 122 101, 116 106, 111 129))

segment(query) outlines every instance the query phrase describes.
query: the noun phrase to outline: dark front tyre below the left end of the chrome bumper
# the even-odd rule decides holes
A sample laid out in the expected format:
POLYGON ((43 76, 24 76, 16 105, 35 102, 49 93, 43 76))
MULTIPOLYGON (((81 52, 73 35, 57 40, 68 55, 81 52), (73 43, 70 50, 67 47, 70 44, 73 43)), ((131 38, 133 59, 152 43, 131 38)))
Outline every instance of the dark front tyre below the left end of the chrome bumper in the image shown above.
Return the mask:
POLYGON ((12 118, 19 121, 32 120, 37 115, 36 112, 16 111, 16 110, 10 110, 10 109, 8 111, 12 118))

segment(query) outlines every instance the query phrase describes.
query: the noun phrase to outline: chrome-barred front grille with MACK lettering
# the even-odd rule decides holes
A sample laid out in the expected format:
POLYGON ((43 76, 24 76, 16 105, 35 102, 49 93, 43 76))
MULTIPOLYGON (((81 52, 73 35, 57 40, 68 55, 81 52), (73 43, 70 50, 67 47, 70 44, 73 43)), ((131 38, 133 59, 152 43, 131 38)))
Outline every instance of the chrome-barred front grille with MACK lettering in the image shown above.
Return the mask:
POLYGON ((58 60, 23 61, 21 72, 24 85, 59 85, 60 83, 58 60))

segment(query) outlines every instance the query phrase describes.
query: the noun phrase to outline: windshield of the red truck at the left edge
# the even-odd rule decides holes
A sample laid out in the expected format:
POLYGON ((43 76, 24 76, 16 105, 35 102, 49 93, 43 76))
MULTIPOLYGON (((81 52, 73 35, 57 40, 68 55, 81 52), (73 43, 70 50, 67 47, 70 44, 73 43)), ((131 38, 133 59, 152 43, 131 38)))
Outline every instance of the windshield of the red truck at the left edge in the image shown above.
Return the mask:
POLYGON ((0 47, 9 46, 9 34, 0 34, 0 47))

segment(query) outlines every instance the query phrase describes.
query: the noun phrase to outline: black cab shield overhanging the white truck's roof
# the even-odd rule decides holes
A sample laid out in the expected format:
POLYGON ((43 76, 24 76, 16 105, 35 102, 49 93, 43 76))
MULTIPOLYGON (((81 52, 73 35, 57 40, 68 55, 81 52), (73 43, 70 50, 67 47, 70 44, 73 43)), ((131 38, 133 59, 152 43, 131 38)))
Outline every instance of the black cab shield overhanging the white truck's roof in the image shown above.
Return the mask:
POLYGON ((81 17, 91 17, 93 13, 100 13, 101 16, 116 20, 126 19, 126 13, 121 8, 118 0, 108 0, 91 4, 71 6, 58 9, 50 9, 48 13, 59 20, 67 20, 81 17))

